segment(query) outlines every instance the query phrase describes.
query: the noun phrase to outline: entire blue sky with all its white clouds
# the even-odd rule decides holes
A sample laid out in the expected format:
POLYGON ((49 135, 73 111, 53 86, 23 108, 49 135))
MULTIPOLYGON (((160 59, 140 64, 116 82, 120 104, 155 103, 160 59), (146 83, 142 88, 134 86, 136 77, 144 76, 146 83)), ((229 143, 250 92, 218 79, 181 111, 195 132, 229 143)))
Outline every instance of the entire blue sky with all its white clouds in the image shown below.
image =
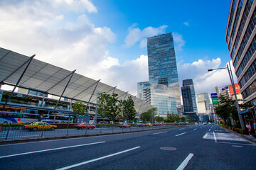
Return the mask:
POLYGON ((196 94, 230 84, 225 42, 230 0, 3 0, 0 47, 137 95, 147 81, 146 38, 174 34, 178 78, 196 94))

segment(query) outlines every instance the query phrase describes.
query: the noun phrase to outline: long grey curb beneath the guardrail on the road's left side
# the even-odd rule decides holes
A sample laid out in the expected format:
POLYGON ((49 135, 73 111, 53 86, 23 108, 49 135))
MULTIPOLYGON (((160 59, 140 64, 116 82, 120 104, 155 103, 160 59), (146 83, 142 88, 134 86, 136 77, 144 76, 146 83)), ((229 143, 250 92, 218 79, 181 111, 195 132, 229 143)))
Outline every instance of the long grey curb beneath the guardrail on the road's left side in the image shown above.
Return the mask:
POLYGON ((60 136, 60 137, 36 137, 36 138, 19 138, 14 140, 2 140, 0 141, 0 145, 9 145, 9 144, 16 144, 16 143, 25 143, 25 142, 40 142, 40 141, 47 141, 47 140, 65 140, 65 139, 75 139, 80 137, 94 137, 94 136, 104 136, 104 135, 117 135, 117 134, 125 134, 125 133, 133 133, 133 132, 146 132, 152 130, 162 130, 162 129, 171 129, 171 128, 182 128, 186 127, 187 125, 181 125, 178 127, 169 127, 169 128, 160 128, 160 129, 148 129, 148 130, 136 130, 136 131, 127 131, 127 132, 107 132, 107 133, 97 133, 97 134, 90 134, 90 135, 70 135, 70 136, 60 136))

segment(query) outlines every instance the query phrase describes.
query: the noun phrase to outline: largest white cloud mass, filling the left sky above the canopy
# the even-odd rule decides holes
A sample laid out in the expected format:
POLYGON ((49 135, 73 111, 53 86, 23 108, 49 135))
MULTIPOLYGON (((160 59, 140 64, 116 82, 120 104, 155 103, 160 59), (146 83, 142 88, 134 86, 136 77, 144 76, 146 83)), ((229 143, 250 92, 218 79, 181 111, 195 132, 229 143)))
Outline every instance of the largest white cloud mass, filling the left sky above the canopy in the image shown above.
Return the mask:
POLYGON ((108 50, 116 35, 111 28, 95 27, 86 12, 97 12, 90 1, 1 1, 0 47, 36 54, 37 60, 77 69, 78 74, 137 95, 137 82, 148 80, 147 57, 119 64, 108 50))

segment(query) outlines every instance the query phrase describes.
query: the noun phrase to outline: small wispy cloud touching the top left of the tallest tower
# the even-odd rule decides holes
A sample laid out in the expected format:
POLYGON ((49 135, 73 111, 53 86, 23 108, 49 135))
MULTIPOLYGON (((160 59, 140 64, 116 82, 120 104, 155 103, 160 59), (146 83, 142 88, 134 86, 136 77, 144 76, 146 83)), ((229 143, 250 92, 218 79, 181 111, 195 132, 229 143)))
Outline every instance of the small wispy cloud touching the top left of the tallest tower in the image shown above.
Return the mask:
POLYGON ((140 42, 140 47, 145 47, 145 39, 148 37, 152 37, 154 35, 159 35, 165 33, 167 26, 160 26, 159 28, 147 27, 144 30, 140 30, 139 28, 135 28, 137 24, 133 24, 129 30, 129 34, 125 39, 125 45, 127 47, 132 47, 137 42, 140 42))

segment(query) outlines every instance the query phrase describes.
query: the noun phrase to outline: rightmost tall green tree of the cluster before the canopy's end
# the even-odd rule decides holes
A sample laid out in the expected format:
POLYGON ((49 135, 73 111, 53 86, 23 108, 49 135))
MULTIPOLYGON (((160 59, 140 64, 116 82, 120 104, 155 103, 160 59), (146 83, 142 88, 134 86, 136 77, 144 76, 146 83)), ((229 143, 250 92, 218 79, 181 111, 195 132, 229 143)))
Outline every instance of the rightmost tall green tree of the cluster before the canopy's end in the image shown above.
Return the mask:
POLYGON ((129 96, 127 100, 119 101, 119 103, 121 104, 120 108, 124 114, 124 118, 129 121, 134 120, 136 110, 134 108, 134 101, 132 100, 132 97, 129 96))

